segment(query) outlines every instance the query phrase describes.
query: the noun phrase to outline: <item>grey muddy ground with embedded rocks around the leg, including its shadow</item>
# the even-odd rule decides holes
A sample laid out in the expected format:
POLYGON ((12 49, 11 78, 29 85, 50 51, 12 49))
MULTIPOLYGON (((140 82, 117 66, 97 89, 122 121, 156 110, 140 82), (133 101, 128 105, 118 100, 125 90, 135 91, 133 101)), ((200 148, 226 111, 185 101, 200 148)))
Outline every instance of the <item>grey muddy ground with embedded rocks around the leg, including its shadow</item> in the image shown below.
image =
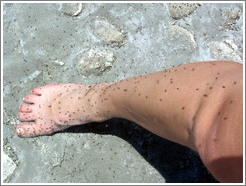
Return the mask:
POLYGON ((242 63, 243 5, 4 4, 5 183, 213 183, 198 155, 121 119, 19 138, 18 106, 37 87, 97 84, 179 64, 242 63))

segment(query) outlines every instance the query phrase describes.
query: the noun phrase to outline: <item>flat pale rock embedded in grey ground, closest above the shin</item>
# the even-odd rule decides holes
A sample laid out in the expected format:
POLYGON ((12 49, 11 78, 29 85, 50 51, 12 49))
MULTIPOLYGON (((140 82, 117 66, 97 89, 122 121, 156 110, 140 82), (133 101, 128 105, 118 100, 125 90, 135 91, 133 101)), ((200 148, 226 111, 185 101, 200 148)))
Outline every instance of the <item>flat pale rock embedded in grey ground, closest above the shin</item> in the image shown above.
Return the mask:
POLYGON ((173 25, 167 27, 168 38, 175 46, 180 46, 184 50, 193 51, 197 48, 194 36, 186 29, 173 25))

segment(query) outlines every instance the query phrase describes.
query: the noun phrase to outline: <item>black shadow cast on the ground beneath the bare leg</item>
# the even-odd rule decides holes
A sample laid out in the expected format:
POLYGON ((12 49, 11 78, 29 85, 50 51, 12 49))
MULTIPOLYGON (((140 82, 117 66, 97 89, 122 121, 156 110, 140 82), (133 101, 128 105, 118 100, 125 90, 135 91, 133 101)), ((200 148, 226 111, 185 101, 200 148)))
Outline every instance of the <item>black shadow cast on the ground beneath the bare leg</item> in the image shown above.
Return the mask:
POLYGON ((111 119, 68 128, 66 133, 115 135, 130 143, 168 183, 217 183, 198 154, 187 147, 163 139, 124 119, 111 119))

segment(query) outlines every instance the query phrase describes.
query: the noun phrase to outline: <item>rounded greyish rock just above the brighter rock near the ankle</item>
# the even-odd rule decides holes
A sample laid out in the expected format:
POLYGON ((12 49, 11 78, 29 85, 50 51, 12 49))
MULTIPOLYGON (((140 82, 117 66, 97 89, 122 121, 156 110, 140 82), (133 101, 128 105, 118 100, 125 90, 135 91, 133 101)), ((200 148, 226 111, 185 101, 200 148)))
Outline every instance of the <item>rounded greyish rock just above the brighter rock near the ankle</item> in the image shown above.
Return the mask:
POLYGON ((104 18, 95 20, 94 34, 103 44, 121 47, 124 44, 126 33, 118 26, 104 18))

